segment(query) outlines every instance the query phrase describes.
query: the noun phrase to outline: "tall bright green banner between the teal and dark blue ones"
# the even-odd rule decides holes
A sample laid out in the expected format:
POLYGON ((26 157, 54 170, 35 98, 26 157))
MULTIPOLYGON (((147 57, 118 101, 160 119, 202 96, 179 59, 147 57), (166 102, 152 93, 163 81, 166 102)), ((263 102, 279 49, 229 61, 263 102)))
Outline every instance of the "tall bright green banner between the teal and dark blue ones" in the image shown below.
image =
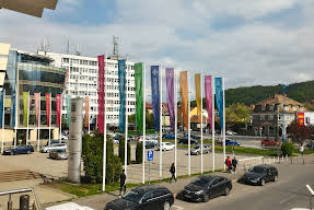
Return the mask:
POLYGON ((143 63, 138 62, 135 65, 136 73, 136 101, 137 101, 137 112, 136 112, 136 122, 137 132, 143 132, 143 63))

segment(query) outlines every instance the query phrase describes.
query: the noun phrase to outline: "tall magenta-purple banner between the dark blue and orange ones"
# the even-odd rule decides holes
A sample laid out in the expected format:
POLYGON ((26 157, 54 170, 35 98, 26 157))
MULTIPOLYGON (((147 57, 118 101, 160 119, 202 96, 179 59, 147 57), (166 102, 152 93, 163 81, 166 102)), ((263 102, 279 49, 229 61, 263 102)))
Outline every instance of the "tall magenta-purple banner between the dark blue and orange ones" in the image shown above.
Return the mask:
POLYGON ((166 75, 166 102, 167 102, 167 110, 170 115, 170 125, 172 131, 175 128, 175 115, 174 115, 174 69, 165 68, 166 75))

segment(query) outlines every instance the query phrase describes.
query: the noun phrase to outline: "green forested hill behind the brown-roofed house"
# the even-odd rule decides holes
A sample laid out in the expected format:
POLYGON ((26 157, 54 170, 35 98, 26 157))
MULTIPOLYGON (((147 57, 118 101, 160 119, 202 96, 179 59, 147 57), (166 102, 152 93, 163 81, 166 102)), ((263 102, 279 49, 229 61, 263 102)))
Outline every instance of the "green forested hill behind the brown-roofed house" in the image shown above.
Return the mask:
MULTIPOLYGON (((301 103, 310 103, 314 100, 314 81, 290 84, 286 88, 288 97, 301 103)), ((282 94, 282 86, 246 86, 229 89, 225 91, 225 105, 243 103, 247 106, 274 96, 275 93, 282 94)))

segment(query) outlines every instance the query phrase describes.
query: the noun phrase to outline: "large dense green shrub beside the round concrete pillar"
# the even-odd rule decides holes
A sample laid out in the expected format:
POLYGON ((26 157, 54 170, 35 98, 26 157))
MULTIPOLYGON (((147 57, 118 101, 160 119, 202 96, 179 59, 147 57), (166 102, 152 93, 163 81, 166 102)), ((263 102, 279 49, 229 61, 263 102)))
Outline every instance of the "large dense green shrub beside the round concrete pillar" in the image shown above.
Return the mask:
MULTIPOLYGON (((103 145, 104 136, 95 133, 83 136, 83 161, 84 161, 84 179, 86 183, 96 184, 103 182, 103 145)), ((123 165, 118 156, 114 155, 114 142, 107 136, 106 147, 106 184, 119 180, 123 165)))

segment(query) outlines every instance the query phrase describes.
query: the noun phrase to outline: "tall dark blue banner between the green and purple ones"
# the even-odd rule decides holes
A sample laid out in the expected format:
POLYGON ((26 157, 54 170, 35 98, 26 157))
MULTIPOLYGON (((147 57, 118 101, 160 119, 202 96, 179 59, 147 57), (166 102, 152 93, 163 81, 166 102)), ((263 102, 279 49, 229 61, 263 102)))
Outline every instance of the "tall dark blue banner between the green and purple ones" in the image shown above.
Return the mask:
POLYGON ((160 90, 159 66, 151 66, 152 106, 154 116, 154 129, 160 130, 160 90))

